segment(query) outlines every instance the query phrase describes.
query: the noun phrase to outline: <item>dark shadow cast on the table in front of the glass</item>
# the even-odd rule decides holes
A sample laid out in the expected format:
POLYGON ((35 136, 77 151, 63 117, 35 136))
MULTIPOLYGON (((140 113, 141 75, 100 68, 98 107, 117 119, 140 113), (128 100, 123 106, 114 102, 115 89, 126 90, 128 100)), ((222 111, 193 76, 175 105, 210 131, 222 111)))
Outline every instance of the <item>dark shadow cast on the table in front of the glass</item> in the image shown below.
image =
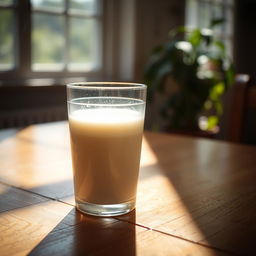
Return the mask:
MULTIPOLYGON (((135 223, 135 210, 127 214, 135 223)), ((136 255, 135 225, 72 209, 29 255, 136 255)))

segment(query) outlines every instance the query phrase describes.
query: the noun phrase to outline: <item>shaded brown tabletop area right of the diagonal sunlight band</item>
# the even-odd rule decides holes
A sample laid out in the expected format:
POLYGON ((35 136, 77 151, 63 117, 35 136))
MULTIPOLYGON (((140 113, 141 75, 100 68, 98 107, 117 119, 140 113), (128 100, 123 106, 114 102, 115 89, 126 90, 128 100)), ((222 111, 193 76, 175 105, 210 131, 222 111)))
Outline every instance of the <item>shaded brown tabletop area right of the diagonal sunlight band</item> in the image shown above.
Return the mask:
MULTIPOLYGON (((255 187, 237 179, 237 174, 241 175, 246 166, 253 164, 253 157, 235 146, 208 140, 173 137, 171 144, 170 138, 166 138, 167 143, 164 138, 154 143, 147 134, 145 138, 157 158, 159 170, 169 179, 193 219, 191 222, 181 216, 177 222, 170 220, 167 226, 174 232, 177 229, 184 238, 224 252, 255 255, 255 187), (237 167, 232 161, 236 158, 243 159, 243 165, 237 167), (193 224, 202 235, 188 234, 193 224)), ((253 172, 246 175, 247 180, 248 175, 255 179, 253 172)))

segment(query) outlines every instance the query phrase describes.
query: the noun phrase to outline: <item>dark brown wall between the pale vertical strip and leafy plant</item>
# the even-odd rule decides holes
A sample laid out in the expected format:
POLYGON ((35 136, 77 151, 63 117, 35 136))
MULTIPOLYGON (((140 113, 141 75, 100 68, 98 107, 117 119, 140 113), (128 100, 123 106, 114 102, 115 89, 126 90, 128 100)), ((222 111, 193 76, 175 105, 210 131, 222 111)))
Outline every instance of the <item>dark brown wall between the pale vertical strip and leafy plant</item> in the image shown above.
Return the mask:
POLYGON ((168 39, 168 32, 184 25, 185 0, 136 1, 134 79, 143 81, 143 70, 152 49, 168 39))

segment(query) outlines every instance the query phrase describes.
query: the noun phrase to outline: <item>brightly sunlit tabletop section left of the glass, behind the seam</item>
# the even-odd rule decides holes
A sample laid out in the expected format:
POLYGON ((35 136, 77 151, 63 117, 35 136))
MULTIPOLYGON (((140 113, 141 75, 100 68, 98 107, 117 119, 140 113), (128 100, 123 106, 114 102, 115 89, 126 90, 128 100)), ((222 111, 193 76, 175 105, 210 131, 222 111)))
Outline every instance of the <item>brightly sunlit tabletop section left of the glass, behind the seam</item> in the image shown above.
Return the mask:
POLYGON ((31 126, 7 137, 0 144, 0 181, 53 199, 71 196, 68 143, 63 122, 31 126))

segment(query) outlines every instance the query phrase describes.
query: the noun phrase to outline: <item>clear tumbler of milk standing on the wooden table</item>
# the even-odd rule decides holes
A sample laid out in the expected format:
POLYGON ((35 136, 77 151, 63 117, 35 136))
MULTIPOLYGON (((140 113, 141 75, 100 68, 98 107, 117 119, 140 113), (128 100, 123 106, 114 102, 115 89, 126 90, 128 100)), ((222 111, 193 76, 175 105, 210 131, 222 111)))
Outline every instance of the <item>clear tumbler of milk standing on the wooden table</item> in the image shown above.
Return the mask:
POLYGON ((146 85, 67 85, 76 207, 116 216, 135 207, 146 85))

